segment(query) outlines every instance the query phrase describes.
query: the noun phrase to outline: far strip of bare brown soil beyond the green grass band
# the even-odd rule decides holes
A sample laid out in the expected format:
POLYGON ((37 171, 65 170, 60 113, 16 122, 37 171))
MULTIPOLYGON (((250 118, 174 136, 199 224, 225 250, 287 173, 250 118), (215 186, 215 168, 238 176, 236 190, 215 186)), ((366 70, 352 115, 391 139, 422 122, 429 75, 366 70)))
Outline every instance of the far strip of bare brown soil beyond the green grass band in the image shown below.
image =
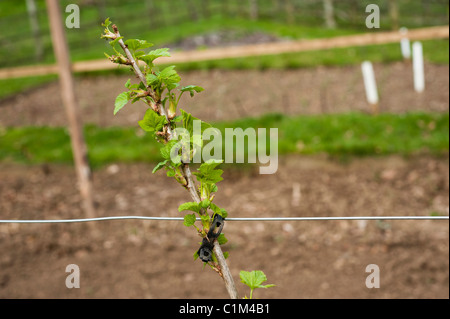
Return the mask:
MULTIPOLYGON (((377 64, 375 72, 382 112, 448 111, 449 66, 426 65, 427 89, 413 90, 410 65, 377 64)), ((76 88, 83 120, 101 126, 131 125, 143 117, 137 103, 112 116, 115 97, 125 90, 128 76, 77 78, 76 88)), ((203 86, 194 99, 186 96, 182 107, 206 121, 258 116, 268 112, 321 114, 370 111, 359 66, 299 69, 188 72, 182 85, 203 86)), ((67 124, 58 83, 0 101, 0 127, 67 124)))

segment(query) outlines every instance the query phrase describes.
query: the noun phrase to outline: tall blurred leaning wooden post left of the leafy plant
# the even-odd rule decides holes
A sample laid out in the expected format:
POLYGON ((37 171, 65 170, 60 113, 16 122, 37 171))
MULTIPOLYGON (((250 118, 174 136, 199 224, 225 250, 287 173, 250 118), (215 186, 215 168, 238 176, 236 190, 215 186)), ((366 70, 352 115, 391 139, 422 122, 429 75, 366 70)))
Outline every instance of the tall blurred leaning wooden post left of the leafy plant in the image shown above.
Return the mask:
POLYGON ((69 57, 69 48, 64 33, 61 8, 58 0, 46 0, 50 20, 53 50, 59 68, 61 96, 69 121, 72 151, 78 177, 79 188, 83 200, 83 208, 87 218, 95 217, 92 198, 91 169, 88 164, 87 147, 84 141, 82 123, 75 97, 75 85, 69 57))

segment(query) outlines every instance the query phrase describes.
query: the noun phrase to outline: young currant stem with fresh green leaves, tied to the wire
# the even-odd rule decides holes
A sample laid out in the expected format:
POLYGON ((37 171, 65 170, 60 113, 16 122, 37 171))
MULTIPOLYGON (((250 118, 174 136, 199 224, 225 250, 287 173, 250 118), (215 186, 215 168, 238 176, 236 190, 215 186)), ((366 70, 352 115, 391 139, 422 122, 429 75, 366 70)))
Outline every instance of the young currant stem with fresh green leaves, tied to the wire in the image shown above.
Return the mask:
MULTIPOLYGON (((170 57, 169 49, 147 50, 153 44, 145 40, 128 39, 124 41, 124 37, 120 36, 117 26, 113 25, 109 18, 102 26, 105 28, 102 38, 109 41, 114 51, 111 56, 105 53, 106 57, 113 63, 129 66, 140 80, 138 84, 131 84, 131 80, 125 83, 127 90, 117 96, 114 115, 120 112, 129 102, 140 101, 146 104, 148 109, 144 118, 139 121, 139 126, 162 144, 160 153, 163 160, 156 165, 153 173, 164 169, 168 177, 175 178, 190 192, 194 201, 180 205, 178 210, 179 212, 189 212, 184 217, 184 225, 194 227, 197 234, 203 239, 201 248, 194 254, 194 259, 200 257, 204 265, 209 265, 217 271, 227 283, 226 278, 231 277, 231 275, 229 275, 229 270, 229 276, 224 274, 223 268, 228 268, 226 262, 224 262, 228 253, 223 253, 225 258, 221 257, 221 260, 218 261, 217 256, 212 251, 216 241, 219 245, 228 241, 224 234, 214 232, 217 230, 217 225, 220 225, 220 231, 222 230, 223 221, 228 216, 225 209, 214 203, 218 191, 217 183, 223 180, 223 171, 218 168, 223 161, 206 161, 200 165, 196 172, 191 173, 189 163, 192 162, 195 152, 201 152, 202 150, 201 142, 198 144, 194 138, 194 121, 200 122, 201 134, 211 125, 200 121, 182 109, 180 109, 181 115, 177 115, 179 102, 184 93, 189 92, 190 96, 194 97, 195 94, 202 92, 204 89, 196 85, 181 87, 181 77, 175 70, 175 66, 168 66, 161 70, 155 65, 155 60, 158 58, 170 57), (112 31, 110 28, 112 28, 112 31), (118 45, 124 54, 117 49, 118 45), (189 145, 182 144, 178 140, 177 127, 182 127, 190 134, 189 145), (192 151, 184 152, 186 148, 192 151), (196 187, 192 175, 196 177, 199 183, 198 187, 196 187), (200 225, 197 224, 198 221, 200 225), (201 252, 202 247, 207 250, 203 251, 200 256, 199 252, 201 252)), ((198 122, 196 123, 198 126, 198 122)), ((219 251, 222 254, 220 249, 219 251)), ((257 279, 247 281, 252 284, 250 296, 252 296, 254 289, 262 287, 260 283, 255 286, 255 282, 258 283, 261 276, 258 275, 257 279)), ((232 293, 230 293, 231 295, 232 293)))

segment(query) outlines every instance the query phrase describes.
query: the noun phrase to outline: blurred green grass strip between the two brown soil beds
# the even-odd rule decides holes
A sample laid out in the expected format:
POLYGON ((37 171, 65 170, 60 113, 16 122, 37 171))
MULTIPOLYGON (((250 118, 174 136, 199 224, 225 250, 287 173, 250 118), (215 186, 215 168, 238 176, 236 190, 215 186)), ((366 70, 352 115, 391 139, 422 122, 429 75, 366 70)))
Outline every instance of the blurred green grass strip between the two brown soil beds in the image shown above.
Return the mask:
MULTIPOLYGON (((371 116, 347 113, 320 116, 266 115, 229 123, 225 128, 278 128, 279 154, 370 156, 449 150, 449 114, 407 113, 371 116)), ((159 144, 140 128, 87 126, 85 135, 94 167, 114 162, 158 162, 159 144)), ((65 128, 0 129, 0 161, 26 164, 72 163, 65 128)))

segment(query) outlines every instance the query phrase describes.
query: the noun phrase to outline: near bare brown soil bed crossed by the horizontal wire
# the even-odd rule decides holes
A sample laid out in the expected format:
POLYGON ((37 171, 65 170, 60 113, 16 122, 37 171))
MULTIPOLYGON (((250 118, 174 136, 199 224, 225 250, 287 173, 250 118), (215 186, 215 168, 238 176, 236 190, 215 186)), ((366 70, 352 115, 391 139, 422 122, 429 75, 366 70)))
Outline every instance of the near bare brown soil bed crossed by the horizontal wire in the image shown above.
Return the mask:
MULTIPOLYGON (((182 216, 188 193, 153 165, 95 172, 98 216, 182 216)), ((230 217, 448 215, 449 159, 416 155, 335 162, 280 159, 277 174, 227 169, 217 203, 230 217), (297 186, 296 186, 297 185, 297 186), (300 192, 293 196, 293 190, 300 192)), ((79 218, 72 167, 0 164, 0 219, 79 218)), ((0 224, 0 298, 227 298, 192 255, 200 239, 181 222, 0 224), (81 288, 68 289, 77 264, 81 288)), ((264 270, 276 288, 257 298, 449 298, 447 221, 227 222, 229 265, 264 270), (365 285, 366 266, 381 288, 365 285)))

